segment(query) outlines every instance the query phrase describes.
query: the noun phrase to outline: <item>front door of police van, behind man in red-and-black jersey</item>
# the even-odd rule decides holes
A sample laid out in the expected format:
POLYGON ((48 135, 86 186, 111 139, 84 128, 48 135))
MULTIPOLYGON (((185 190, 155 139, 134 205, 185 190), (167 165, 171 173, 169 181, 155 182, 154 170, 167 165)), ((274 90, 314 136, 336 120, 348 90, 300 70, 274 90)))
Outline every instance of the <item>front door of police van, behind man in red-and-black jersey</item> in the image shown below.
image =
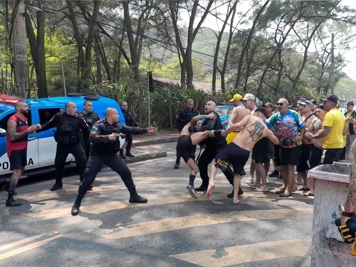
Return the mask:
MULTIPOLYGON (((15 110, 10 110, 4 114, 0 119, 0 128, 7 130, 7 120, 15 114, 15 110)), ((37 123, 36 112, 33 108, 30 108, 30 112, 27 117, 27 123, 29 126, 37 123)), ((25 169, 33 169, 38 167, 38 133, 28 135, 27 144, 27 166, 25 169)), ((11 173, 10 162, 6 153, 6 136, 0 137, 0 175, 11 173)))

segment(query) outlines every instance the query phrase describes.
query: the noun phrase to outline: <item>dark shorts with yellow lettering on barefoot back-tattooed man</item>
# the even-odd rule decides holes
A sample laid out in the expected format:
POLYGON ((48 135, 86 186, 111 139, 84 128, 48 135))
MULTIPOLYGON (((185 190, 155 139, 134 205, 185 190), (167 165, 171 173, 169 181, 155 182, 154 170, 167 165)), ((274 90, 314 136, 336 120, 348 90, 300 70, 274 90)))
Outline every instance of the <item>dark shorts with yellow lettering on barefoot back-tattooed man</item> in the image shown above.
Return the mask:
POLYGON ((250 156, 250 151, 239 147, 235 143, 229 143, 223 150, 220 150, 218 155, 215 156, 215 166, 221 171, 227 171, 232 165, 234 174, 244 176, 246 174, 244 167, 250 156))

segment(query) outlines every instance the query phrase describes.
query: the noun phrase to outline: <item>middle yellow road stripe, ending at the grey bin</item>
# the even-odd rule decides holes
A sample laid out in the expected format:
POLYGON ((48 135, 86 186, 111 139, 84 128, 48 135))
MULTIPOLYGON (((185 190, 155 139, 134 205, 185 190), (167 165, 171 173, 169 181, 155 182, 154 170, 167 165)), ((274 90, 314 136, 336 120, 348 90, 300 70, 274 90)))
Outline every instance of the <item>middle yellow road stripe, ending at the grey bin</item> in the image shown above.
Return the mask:
POLYGON ((250 220, 311 218, 312 215, 313 209, 243 210, 219 214, 197 214, 118 227, 116 228, 117 232, 110 232, 102 236, 108 239, 120 239, 204 225, 250 220))

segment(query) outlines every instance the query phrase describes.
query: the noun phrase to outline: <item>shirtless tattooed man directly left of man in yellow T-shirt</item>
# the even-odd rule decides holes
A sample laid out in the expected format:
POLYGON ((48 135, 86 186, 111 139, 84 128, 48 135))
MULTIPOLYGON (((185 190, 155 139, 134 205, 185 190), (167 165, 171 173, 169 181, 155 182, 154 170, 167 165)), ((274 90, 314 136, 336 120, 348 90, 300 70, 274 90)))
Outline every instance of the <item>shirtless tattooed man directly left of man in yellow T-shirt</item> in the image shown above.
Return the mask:
MULTIPOLYGON (((317 106, 315 110, 316 110, 316 118, 314 118, 312 120, 312 124, 310 124, 305 129, 304 137, 306 137, 306 138, 308 138, 309 133, 314 135, 315 133, 318 133, 321 129, 323 129, 323 120, 326 115, 324 106, 323 105, 317 106)), ((308 122, 307 122, 307 125, 308 125, 308 122)), ((323 155, 323 142, 321 141, 321 138, 314 139, 314 140, 315 140, 314 147, 312 148, 312 152, 310 152, 310 157, 309 157, 309 169, 313 169, 316 166, 319 166, 321 155, 323 155)), ((303 195, 305 195, 305 196, 314 195, 314 179, 313 178, 309 179, 309 184, 310 184, 310 191, 308 191, 307 193, 304 193, 303 195)))

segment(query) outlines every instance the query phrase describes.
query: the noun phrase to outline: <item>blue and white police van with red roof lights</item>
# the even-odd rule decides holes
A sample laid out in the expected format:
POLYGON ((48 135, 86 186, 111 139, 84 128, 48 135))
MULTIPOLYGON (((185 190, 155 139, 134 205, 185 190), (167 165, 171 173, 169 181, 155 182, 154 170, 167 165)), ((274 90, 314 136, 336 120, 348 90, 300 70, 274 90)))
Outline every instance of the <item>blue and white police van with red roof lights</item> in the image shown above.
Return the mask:
MULTIPOLYGON (((119 104, 113 99, 103 96, 59 96, 41 99, 21 99, 15 96, 0 95, 0 183, 10 177, 10 163, 6 153, 6 129, 7 120, 15 113, 14 104, 26 101, 30 106, 28 114, 28 125, 41 124, 49 121, 54 114, 64 111, 64 104, 72 101, 77 104, 77 112, 83 109, 85 100, 93 102, 93 110, 100 118, 105 117, 106 108, 115 108, 119 112, 119 122, 125 125, 119 104)), ((54 170, 54 157, 56 156, 57 143, 53 138, 53 130, 48 129, 40 133, 28 135, 27 166, 24 176, 39 174, 54 170)), ((121 147, 125 144, 125 136, 120 138, 121 147)), ((66 167, 75 167, 75 159, 69 154, 66 159, 66 167)))

